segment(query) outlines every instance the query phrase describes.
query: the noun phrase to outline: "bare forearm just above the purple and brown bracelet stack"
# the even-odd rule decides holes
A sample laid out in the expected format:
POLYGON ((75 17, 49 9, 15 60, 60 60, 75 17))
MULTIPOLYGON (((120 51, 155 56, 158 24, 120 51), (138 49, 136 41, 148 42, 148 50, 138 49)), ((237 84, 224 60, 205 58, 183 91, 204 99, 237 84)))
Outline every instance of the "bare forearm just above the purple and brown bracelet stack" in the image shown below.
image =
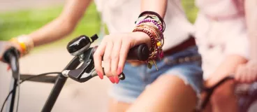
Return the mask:
POLYGON ((153 11, 164 18, 167 7, 167 0, 141 0, 141 12, 153 11))

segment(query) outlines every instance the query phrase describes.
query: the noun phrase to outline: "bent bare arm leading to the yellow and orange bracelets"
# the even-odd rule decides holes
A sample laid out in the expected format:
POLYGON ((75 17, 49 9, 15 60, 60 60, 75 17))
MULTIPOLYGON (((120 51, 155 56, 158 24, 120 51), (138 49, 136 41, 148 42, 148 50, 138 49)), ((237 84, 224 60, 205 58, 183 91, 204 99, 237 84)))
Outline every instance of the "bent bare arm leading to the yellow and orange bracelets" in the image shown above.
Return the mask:
POLYGON ((84 15, 87 6, 91 0, 70 0, 66 3, 63 12, 54 21, 48 23, 41 29, 38 29, 31 34, 34 45, 43 45, 52 41, 57 41, 70 34, 84 15))

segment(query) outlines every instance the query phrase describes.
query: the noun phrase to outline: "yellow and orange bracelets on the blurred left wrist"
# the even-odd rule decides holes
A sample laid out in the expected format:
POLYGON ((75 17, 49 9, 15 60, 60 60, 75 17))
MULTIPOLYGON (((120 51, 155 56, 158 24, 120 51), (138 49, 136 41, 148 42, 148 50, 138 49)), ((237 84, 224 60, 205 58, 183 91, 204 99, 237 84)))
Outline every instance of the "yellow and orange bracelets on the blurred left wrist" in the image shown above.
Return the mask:
POLYGON ((10 39, 10 41, 20 45, 20 48, 22 50, 20 51, 20 54, 22 56, 27 55, 29 51, 31 51, 32 48, 34 48, 34 42, 31 38, 29 38, 29 36, 18 36, 17 38, 10 39))

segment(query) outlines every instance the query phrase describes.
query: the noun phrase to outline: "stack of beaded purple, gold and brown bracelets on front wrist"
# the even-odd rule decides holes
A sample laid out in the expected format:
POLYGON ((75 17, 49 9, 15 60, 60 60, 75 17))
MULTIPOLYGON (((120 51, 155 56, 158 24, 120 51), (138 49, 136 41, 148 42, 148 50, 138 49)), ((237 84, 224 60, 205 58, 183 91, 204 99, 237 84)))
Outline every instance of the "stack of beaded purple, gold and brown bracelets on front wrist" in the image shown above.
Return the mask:
MULTIPOLYGON (((136 27, 133 29, 135 31, 141 31, 147 34, 151 38, 151 47, 149 48, 150 54, 149 59, 147 59, 148 68, 151 69, 152 65, 156 66, 155 60, 157 58, 163 58, 163 31, 165 30, 165 22, 158 13, 152 11, 142 12, 138 20, 135 22, 136 27)), ((157 66, 156 69, 158 70, 157 66)))

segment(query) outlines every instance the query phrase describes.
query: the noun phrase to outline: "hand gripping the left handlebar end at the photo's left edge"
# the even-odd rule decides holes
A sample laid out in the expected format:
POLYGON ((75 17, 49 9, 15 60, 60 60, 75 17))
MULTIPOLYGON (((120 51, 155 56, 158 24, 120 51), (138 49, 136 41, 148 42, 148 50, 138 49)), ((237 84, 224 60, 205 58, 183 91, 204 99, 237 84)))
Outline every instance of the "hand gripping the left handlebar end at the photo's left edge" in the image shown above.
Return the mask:
POLYGON ((8 50, 8 48, 15 47, 17 50, 22 51, 20 45, 17 43, 11 43, 9 41, 0 41, 0 61, 4 62, 3 60, 3 53, 8 50))

